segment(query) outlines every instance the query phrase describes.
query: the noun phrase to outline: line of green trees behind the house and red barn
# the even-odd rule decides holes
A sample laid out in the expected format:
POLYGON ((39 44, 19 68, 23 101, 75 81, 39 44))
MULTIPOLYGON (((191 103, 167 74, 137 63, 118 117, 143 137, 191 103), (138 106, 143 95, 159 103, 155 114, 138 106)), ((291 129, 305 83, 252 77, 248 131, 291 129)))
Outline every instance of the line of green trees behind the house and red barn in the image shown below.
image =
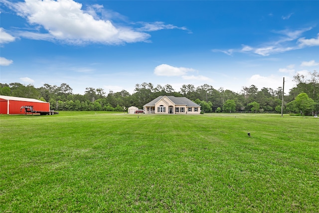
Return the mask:
MULTIPOLYGON (((319 73, 314 70, 310 77, 296 74, 296 86, 284 98, 284 113, 301 115, 316 114, 319 111, 319 73)), ((35 88, 32 84, 0 83, 0 94, 7 96, 34 98, 50 103, 52 110, 69 111, 120 111, 130 106, 143 109, 143 105, 160 95, 186 97, 201 106, 202 112, 281 112, 282 87, 277 89, 255 85, 243 86, 240 92, 215 89, 204 84, 195 87, 184 84, 180 91, 166 84, 154 86, 152 83, 136 84, 133 94, 126 90, 109 91, 102 88, 86 88, 84 95, 74 94, 72 88, 62 83, 60 86, 44 84, 35 88)))

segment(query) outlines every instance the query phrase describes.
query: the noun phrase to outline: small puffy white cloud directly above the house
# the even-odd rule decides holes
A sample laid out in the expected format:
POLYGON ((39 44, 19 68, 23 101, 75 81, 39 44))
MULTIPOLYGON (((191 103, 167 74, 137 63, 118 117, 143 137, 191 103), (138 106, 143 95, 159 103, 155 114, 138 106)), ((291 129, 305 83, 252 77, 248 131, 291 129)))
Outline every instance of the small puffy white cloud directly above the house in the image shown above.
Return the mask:
POLYGON ((186 67, 174 67, 168 64, 161 64, 154 69, 154 74, 159 76, 181 76, 187 72, 194 72, 196 70, 186 67))

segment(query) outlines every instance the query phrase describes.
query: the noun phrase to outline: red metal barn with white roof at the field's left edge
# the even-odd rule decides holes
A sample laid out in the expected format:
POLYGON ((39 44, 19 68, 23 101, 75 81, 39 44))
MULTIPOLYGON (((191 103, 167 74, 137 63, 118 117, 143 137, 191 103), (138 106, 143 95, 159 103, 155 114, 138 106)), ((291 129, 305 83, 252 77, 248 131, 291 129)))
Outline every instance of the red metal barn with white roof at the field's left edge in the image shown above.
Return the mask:
POLYGON ((24 114, 21 106, 33 106, 36 111, 50 111, 50 103, 32 99, 0 95, 0 114, 24 114))

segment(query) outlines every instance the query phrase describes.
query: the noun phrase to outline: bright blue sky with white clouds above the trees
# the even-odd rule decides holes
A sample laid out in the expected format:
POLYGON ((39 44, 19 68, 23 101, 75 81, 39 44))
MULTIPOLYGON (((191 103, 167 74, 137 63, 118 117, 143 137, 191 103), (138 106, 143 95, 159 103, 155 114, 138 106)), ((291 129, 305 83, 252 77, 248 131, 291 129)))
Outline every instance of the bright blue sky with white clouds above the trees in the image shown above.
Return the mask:
POLYGON ((288 93, 319 70, 319 1, 0 0, 0 82, 288 93))

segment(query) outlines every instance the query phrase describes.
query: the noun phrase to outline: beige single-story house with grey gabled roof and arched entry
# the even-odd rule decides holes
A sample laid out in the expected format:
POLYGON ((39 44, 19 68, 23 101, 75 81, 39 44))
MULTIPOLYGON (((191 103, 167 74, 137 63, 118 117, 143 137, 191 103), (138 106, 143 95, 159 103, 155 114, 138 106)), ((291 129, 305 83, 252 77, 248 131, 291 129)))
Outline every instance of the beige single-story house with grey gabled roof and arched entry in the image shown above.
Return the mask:
POLYGON ((145 114, 200 114, 200 106, 186 97, 161 95, 143 107, 145 114))

